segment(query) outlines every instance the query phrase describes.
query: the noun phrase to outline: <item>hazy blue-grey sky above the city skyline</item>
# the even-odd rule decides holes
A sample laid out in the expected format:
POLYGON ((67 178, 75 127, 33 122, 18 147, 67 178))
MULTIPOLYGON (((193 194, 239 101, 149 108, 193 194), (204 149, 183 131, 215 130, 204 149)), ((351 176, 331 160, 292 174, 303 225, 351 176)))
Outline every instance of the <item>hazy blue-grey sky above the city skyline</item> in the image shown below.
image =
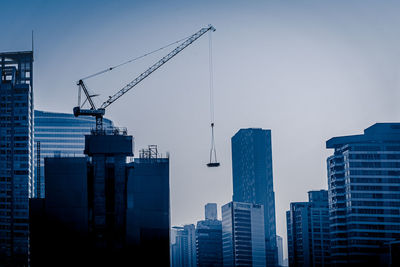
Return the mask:
MULTIPOLYGON (((400 4, 396 1, 8 1, 0 51, 30 50, 35 107, 72 112, 75 81, 213 24, 216 144, 210 148, 208 37, 203 36, 107 110, 136 152, 171 155, 171 224, 196 223, 207 202, 232 197, 230 138, 272 130, 277 234, 285 211, 327 188, 325 141, 398 121, 400 4)), ((162 51, 88 80, 98 103, 162 51)))

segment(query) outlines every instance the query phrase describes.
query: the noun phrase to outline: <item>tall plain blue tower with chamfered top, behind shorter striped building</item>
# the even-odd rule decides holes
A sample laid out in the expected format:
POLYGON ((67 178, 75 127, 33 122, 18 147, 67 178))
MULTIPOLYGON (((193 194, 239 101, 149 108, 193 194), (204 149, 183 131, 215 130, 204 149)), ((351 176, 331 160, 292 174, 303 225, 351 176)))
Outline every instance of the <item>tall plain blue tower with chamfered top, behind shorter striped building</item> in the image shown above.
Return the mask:
POLYGON ((267 266, 276 266, 275 194, 271 130, 240 129, 232 137, 233 201, 264 207, 267 266))

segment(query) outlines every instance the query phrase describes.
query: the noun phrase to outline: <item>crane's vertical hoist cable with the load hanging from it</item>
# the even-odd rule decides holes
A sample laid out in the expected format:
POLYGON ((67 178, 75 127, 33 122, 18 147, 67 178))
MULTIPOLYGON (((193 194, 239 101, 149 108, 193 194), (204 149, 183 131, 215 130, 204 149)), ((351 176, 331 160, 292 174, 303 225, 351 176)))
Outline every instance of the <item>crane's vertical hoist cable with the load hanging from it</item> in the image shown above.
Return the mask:
POLYGON ((211 148, 210 148, 210 162, 207 163, 207 167, 218 167, 220 163, 217 161, 217 150, 215 147, 214 138, 214 69, 213 69, 213 58, 212 58, 212 35, 209 32, 209 42, 208 42, 208 62, 210 71, 210 126, 211 126, 211 148))

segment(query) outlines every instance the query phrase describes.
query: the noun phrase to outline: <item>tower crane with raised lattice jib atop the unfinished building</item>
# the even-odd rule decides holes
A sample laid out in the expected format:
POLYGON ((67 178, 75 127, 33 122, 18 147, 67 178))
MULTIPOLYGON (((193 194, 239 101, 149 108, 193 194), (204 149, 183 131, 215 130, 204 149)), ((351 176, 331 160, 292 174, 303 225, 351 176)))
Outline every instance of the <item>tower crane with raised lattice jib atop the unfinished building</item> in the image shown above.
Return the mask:
MULTIPOLYGON (((105 109, 114 103, 118 98, 126 94, 129 90, 131 90, 133 87, 135 87, 137 84, 139 84, 141 81, 146 79, 150 74, 152 74, 154 71, 159 69, 162 65, 167 63, 171 58, 179 54, 183 49, 191 45, 194 41, 199 39, 202 35, 204 35, 208 31, 215 31, 215 28, 212 25, 208 25, 208 27, 200 29, 198 32, 195 34, 191 35, 189 38, 187 38, 183 43, 181 43, 179 46, 177 46, 174 50, 172 50, 168 55, 164 56, 162 59, 157 61, 155 64, 153 64, 151 67, 149 67, 146 71, 141 73, 138 77, 136 77, 133 81, 125 85, 121 90, 119 90, 117 93, 115 93, 113 96, 110 96, 109 99, 107 99, 101 106, 100 108, 96 108, 92 97, 87 88, 85 83, 83 82, 83 79, 79 80, 77 85, 79 86, 79 95, 80 91, 83 90, 86 96, 86 100, 90 104, 90 109, 82 109, 80 105, 80 100, 78 101, 78 106, 74 107, 74 115, 75 117, 78 116, 93 116, 96 118, 96 132, 97 134, 101 134, 103 132, 103 116, 105 114, 105 109)), ((79 97, 80 98, 80 97, 79 97)), ((86 102, 86 101, 85 101, 86 102)), ((84 102, 84 103, 85 103, 84 102)))

